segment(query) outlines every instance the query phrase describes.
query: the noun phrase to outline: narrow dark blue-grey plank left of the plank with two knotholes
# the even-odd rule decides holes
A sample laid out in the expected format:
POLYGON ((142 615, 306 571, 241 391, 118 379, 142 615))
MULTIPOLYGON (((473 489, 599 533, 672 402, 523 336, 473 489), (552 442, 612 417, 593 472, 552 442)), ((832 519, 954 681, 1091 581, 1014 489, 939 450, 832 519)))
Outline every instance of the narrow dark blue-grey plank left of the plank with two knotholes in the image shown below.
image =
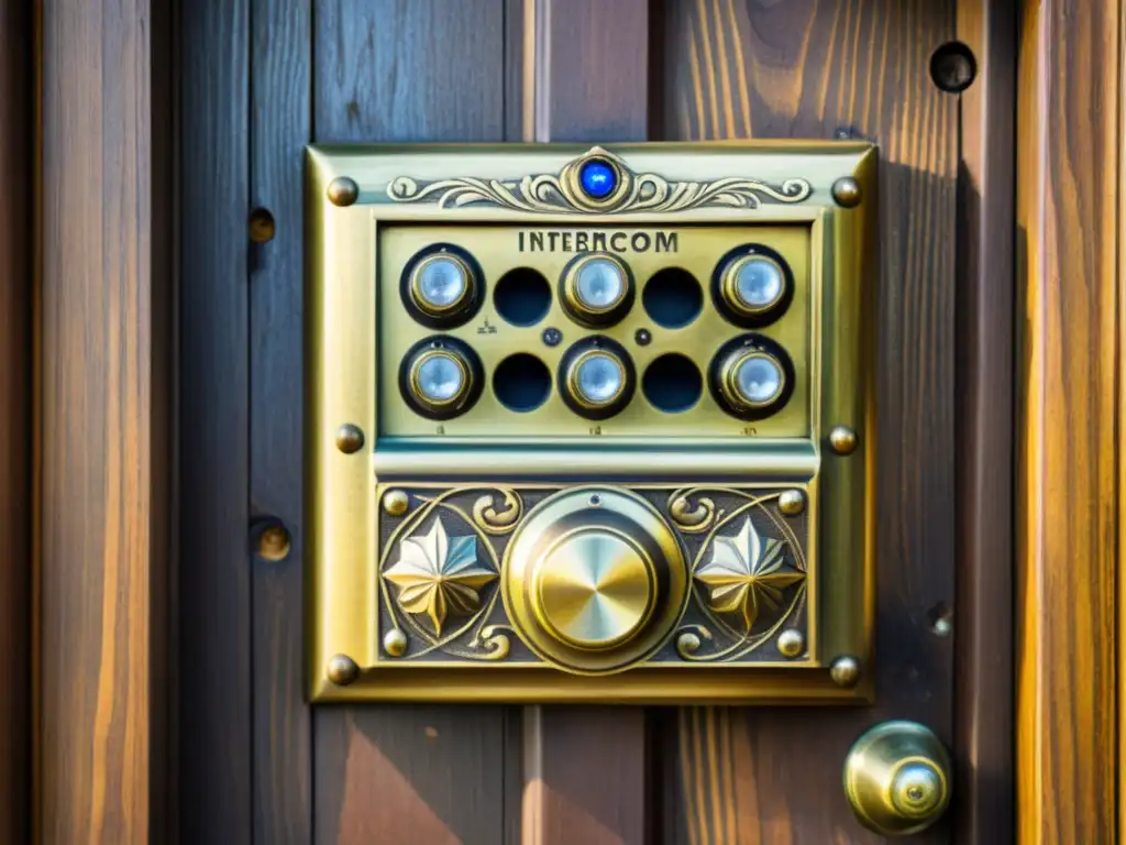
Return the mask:
POLYGON ((180 6, 180 831, 251 824, 249 0, 180 6))

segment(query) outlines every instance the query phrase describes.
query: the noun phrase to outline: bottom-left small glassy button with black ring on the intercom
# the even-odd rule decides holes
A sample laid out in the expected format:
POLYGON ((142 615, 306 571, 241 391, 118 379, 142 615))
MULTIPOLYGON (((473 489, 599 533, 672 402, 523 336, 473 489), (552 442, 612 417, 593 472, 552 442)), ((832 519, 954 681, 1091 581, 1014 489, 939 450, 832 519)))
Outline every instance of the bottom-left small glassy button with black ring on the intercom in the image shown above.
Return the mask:
POLYGON ((465 413, 481 394, 481 363, 465 344, 448 337, 415 344, 403 359, 400 390, 418 413, 452 419, 465 413))

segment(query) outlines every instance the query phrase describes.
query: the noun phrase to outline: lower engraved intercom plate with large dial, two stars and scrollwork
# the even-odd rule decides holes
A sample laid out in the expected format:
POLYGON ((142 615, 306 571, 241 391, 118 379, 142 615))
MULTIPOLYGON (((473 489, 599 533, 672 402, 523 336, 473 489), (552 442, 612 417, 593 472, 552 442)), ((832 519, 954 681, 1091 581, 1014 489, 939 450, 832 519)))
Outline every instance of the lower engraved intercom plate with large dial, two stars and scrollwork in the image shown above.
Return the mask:
POLYGON ((784 509, 786 499, 804 501, 804 488, 384 495, 408 505, 382 517, 381 661, 578 675, 816 664, 810 513, 784 509))

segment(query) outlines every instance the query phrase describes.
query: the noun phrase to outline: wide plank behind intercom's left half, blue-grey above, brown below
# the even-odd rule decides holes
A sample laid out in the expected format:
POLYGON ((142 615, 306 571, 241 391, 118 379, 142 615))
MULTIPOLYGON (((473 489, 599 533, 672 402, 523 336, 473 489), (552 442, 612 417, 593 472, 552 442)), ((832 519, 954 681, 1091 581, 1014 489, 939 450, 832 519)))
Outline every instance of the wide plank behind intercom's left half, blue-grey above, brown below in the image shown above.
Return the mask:
MULTIPOLYGON (((316 140, 502 139, 503 14, 504 0, 318 0, 316 140)), ((318 709, 314 840, 504 842, 507 712, 318 709)))

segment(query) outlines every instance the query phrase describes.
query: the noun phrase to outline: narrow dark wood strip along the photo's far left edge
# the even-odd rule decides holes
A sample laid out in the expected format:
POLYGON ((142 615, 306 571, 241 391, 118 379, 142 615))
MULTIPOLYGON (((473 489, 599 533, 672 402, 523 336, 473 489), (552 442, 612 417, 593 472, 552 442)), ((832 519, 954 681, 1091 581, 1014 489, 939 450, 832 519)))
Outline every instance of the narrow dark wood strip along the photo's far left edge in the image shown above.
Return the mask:
POLYGON ((0 0, 0 842, 30 835, 35 30, 0 0))

